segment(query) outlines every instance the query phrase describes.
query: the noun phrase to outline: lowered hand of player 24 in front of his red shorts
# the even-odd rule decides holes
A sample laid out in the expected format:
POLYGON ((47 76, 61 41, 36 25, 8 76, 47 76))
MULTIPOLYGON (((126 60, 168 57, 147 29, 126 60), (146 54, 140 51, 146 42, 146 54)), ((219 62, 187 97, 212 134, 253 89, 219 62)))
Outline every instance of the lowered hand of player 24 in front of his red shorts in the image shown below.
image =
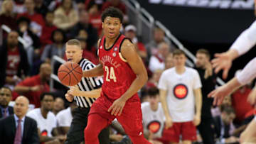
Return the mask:
POLYGON ((111 111, 111 114, 114 116, 120 116, 122 114, 122 110, 124 109, 125 102, 126 101, 124 101, 124 99, 120 97, 119 99, 113 102, 112 106, 110 106, 110 108, 107 111, 111 111))

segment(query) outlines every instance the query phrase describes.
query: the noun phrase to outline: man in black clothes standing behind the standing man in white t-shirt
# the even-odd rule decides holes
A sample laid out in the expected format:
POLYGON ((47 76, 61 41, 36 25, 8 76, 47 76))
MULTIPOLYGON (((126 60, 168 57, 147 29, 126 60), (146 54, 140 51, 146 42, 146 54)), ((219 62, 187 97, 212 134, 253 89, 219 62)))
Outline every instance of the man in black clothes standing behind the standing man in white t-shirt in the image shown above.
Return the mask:
POLYGON ((203 143, 214 144, 214 132, 211 127, 213 116, 210 113, 211 106, 213 105, 213 99, 208 98, 208 94, 215 89, 216 75, 213 72, 213 67, 210 65, 210 52, 206 49, 200 49, 196 52, 196 67, 201 82, 202 82, 202 113, 201 123, 198 126, 198 130, 203 139, 203 143))

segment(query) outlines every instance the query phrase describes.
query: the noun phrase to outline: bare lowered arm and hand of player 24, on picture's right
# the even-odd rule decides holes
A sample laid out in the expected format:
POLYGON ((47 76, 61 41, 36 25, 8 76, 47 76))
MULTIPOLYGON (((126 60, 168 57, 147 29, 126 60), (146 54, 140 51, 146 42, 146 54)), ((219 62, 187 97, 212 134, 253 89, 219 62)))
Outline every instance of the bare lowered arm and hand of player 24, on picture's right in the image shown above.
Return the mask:
POLYGON ((108 111, 111 111, 111 114, 114 114, 114 116, 117 116, 117 114, 119 116, 121 115, 126 101, 137 93, 139 89, 146 84, 148 79, 144 63, 137 54, 135 46, 129 40, 124 40, 121 46, 121 55, 125 60, 127 60, 127 63, 132 68, 133 72, 137 74, 137 78, 134 79, 129 89, 127 89, 127 92, 125 92, 119 99, 114 101, 112 106, 110 106, 108 109, 108 111))

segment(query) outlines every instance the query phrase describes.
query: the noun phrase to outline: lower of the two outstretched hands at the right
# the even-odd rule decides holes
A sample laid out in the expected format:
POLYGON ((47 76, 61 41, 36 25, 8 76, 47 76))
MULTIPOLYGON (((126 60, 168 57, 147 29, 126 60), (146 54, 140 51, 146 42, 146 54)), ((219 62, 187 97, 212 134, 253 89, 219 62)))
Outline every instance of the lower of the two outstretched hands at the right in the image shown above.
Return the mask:
POLYGON ((232 90, 233 89, 228 89, 225 85, 223 85, 210 92, 210 94, 208 94, 208 97, 214 98, 214 106, 219 106, 223 102, 224 97, 228 96, 232 90))

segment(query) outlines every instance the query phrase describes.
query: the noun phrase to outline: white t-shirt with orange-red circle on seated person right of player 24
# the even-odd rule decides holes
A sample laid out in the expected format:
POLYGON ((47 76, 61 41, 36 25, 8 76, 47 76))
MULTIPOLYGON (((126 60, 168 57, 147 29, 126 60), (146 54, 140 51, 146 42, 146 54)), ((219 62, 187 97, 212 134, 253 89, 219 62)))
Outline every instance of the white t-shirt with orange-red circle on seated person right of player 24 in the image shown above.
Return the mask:
POLYGON ((165 121, 164 111, 161 107, 161 103, 159 103, 156 111, 152 111, 149 102, 142 103, 142 118, 144 130, 151 130, 158 138, 161 138, 165 121))

